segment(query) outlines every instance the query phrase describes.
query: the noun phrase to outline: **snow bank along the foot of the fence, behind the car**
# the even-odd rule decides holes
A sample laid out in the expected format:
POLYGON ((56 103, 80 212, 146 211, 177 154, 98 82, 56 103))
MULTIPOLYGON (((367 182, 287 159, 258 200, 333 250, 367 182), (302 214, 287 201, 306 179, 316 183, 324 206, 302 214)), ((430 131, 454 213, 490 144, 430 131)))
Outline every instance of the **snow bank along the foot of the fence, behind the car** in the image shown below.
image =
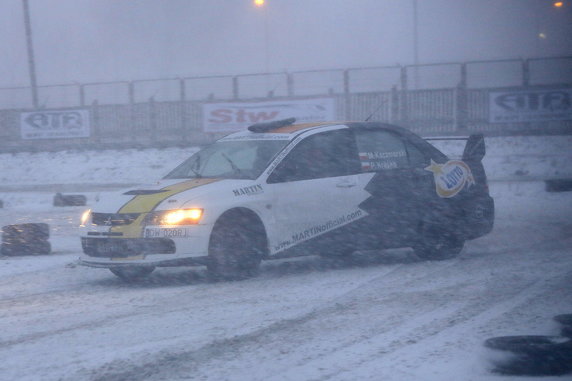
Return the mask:
MULTIPOLYGON (((462 153, 464 142, 436 142, 462 153)), ((486 139, 491 180, 543 180, 572 176, 572 136, 486 139)), ((133 184, 157 180, 197 150, 189 148, 62 151, 0 155, 0 187, 36 184, 133 184)))

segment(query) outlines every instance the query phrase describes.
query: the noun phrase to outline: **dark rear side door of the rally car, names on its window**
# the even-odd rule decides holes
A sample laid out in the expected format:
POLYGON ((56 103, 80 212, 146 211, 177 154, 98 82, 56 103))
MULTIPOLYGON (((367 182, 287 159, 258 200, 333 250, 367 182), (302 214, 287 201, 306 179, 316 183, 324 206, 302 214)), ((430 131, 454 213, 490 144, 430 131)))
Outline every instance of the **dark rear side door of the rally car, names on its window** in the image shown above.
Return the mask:
POLYGON ((401 246, 415 236, 425 209, 431 173, 420 163, 426 158, 407 139, 388 130, 357 130, 356 142, 362 171, 375 173, 365 186, 371 197, 360 205, 369 214, 364 229, 383 246, 401 246))

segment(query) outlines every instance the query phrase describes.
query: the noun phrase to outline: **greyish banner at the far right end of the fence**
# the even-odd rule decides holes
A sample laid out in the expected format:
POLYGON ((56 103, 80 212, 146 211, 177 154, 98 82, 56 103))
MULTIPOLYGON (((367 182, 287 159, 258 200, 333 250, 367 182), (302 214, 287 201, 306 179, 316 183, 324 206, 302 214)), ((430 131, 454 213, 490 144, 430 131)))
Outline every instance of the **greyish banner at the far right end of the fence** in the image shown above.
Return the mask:
POLYGON ((516 123, 572 119, 572 89, 489 93, 489 122, 516 123))

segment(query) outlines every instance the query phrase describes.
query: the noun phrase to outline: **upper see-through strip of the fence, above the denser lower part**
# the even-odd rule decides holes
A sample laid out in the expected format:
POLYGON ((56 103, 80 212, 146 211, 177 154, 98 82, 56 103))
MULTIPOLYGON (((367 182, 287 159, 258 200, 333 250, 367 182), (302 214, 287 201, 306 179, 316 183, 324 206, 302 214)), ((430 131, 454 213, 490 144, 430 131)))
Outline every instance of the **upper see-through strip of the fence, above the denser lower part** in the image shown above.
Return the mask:
MULTIPOLYGON (((400 90, 572 84, 572 56, 393 65, 280 73, 55 84, 38 87, 40 108, 241 100, 400 90)), ((31 109, 29 87, 0 88, 0 109, 31 109)))

